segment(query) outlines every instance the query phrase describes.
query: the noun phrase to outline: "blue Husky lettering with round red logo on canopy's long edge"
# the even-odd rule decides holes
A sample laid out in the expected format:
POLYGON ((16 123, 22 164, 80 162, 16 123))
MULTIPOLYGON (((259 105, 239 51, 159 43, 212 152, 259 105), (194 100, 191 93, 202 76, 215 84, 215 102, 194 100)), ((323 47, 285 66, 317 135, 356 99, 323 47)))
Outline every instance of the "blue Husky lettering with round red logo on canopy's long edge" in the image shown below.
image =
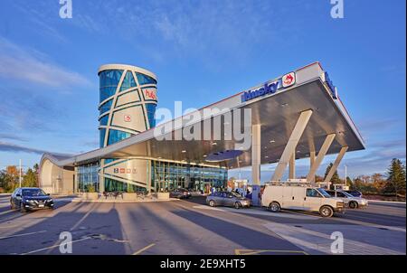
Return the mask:
POLYGON ((245 91, 241 95, 241 102, 259 98, 268 94, 274 94, 275 92, 277 92, 277 90, 288 88, 295 83, 296 73, 290 72, 279 78, 279 80, 264 83, 264 85, 258 89, 245 91))

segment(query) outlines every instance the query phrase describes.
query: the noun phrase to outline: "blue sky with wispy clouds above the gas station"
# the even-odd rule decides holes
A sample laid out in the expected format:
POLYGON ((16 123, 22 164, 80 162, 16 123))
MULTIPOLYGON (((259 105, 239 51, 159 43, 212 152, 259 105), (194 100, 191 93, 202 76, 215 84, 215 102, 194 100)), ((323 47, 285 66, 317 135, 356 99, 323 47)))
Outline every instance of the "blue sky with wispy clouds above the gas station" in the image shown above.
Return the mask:
POLYGON ((154 71, 159 107, 199 108, 321 61, 367 146, 345 155, 348 174, 383 173, 406 154, 406 4, 344 2, 334 20, 329 0, 73 0, 62 20, 58 0, 2 0, 0 168, 98 147, 101 64, 154 71))

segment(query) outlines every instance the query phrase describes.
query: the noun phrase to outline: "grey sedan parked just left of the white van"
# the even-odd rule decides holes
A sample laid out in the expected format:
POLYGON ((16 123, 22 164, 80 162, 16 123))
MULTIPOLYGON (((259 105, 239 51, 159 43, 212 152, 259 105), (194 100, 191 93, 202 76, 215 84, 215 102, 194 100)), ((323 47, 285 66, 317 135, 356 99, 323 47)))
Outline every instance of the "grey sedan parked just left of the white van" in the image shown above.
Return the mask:
POLYGON ((235 192, 215 192, 206 196, 206 203, 211 207, 227 206, 240 209, 251 206, 251 200, 235 192))

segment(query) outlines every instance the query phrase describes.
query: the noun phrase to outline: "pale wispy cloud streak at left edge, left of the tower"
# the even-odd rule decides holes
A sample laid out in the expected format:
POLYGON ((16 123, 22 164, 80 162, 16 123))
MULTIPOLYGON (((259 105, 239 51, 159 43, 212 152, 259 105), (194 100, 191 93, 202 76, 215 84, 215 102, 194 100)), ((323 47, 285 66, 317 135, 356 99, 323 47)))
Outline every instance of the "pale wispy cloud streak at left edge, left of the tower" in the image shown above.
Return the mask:
POLYGON ((0 77, 24 80, 53 88, 90 85, 79 73, 68 71, 32 49, 20 47, 0 37, 0 77))

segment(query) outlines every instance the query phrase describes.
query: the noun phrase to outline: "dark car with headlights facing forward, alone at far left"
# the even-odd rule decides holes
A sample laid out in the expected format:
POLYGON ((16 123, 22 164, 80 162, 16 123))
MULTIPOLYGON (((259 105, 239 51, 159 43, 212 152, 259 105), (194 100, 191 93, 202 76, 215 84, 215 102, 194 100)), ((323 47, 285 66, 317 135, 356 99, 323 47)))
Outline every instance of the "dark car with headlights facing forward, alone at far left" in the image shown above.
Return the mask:
POLYGON ((53 200, 50 194, 46 194, 40 188, 17 188, 10 198, 12 210, 18 209, 20 212, 53 209, 53 200))

